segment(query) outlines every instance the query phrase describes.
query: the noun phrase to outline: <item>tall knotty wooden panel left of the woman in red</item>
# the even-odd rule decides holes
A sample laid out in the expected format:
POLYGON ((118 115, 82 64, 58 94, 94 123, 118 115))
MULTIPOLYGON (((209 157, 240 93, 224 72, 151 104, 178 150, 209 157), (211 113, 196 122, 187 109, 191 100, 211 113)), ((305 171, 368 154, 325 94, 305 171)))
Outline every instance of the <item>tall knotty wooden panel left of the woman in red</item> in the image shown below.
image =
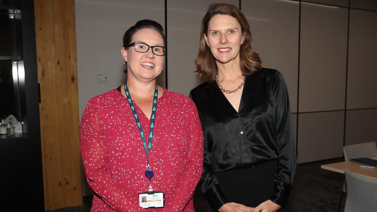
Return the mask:
POLYGON ((35 0, 46 210, 83 203, 74 0, 35 0))

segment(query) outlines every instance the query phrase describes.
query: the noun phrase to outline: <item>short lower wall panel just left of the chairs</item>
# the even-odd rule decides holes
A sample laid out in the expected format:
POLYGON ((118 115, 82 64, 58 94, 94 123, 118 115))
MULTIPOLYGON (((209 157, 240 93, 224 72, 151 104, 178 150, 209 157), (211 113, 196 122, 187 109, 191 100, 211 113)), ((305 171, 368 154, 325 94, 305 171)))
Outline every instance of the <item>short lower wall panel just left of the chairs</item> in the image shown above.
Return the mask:
POLYGON ((299 114, 298 124, 297 163, 343 156, 344 111, 299 114))

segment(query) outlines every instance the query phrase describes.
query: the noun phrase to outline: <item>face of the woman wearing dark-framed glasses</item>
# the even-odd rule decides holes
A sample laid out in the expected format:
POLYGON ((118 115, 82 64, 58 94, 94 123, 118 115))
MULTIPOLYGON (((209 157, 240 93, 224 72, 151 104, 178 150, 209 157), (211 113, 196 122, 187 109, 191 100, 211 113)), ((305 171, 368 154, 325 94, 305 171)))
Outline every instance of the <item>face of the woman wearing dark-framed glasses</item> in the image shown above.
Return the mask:
MULTIPOLYGON (((162 36, 154 29, 140 29, 132 36, 133 42, 146 43, 149 46, 164 46, 162 36)), ((125 49, 122 48, 122 56, 127 61, 128 77, 150 81, 161 74, 164 65, 164 56, 152 53, 152 48, 147 52, 136 52, 133 46, 125 49)))

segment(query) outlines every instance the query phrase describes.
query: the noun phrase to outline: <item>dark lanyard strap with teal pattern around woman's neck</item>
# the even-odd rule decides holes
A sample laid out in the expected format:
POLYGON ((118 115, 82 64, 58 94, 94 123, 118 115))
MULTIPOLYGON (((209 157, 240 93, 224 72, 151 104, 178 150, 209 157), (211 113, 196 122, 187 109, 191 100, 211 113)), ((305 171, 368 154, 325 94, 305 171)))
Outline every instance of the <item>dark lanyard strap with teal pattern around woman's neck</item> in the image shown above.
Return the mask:
POLYGON ((129 103, 130 108, 132 110, 133 117, 135 118, 136 124, 138 125, 139 132, 140 132, 140 135, 141 135, 141 140, 143 141, 144 150, 145 150, 145 153, 147 154, 147 163, 149 165, 148 155, 149 155, 149 152, 150 152, 150 148, 152 147, 152 138, 153 138, 153 129, 154 129, 154 124, 155 124, 155 116, 156 116, 158 88, 156 86, 155 95, 153 97, 152 117, 150 117, 150 127, 149 127, 149 136, 148 136, 148 147, 147 147, 147 144, 145 142, 143 128, 141 128, 140 119, 138 117, 138 114, 136 113, 135 106, 133 106, 131 95, 130 95, 130 92, 127 88, 127 84, 124 84, 124 91, 126 91, 128 103, 129 103))

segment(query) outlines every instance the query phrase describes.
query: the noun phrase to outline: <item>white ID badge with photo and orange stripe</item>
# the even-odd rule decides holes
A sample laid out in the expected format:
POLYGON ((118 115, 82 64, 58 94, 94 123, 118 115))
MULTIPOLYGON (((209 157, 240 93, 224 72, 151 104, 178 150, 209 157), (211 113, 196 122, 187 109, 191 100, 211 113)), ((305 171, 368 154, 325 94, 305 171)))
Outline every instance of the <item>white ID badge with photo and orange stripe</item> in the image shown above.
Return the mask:
POLYGON ((151 191, 139 194, 139 205, 143 208, 159 208, 165 206, 165 194, 151 191))

